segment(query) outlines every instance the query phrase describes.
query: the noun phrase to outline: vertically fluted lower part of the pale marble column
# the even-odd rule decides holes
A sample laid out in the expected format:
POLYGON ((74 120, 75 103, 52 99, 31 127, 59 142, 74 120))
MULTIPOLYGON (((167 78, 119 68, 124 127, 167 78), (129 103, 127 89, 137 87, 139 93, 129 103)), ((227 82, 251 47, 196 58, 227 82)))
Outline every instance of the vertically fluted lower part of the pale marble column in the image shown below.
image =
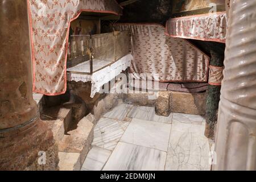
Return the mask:
POLYGON ((213 170, 256 170, 256 110, 221 98, 213 170))

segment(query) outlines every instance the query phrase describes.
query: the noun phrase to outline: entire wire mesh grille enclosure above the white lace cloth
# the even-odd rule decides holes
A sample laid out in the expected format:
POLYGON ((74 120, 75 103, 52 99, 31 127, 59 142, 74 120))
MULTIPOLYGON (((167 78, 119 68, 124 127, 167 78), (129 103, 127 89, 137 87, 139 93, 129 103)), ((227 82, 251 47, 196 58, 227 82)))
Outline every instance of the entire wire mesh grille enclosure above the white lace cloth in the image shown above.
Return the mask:
POLYGON ((73 35, 68 48, 71 72, 96 72, 126 56, 130 51, 128 31, 97 35, 73 35))

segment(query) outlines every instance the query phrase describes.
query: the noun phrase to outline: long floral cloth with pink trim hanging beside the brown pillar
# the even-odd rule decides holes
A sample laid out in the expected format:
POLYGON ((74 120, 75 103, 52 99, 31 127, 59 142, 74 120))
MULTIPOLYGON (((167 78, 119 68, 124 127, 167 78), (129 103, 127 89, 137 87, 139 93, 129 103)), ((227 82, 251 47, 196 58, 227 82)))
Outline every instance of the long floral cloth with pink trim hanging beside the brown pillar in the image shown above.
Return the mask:
POLYGON ((121 15, 115 0, 27 0, 31 28, 33 90, 48 96, 67 89, 70 22, 82 11, 121 15))

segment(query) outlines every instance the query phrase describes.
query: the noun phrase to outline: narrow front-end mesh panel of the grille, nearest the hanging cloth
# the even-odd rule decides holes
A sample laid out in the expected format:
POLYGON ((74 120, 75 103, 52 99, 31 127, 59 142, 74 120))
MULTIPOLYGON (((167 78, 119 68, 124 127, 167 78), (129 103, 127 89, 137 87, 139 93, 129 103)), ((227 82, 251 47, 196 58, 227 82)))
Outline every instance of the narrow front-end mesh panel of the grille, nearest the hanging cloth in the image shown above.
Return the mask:
POLYGON ((68 43, 67 68, 90 60, 90 36, 72 35, 68 43))

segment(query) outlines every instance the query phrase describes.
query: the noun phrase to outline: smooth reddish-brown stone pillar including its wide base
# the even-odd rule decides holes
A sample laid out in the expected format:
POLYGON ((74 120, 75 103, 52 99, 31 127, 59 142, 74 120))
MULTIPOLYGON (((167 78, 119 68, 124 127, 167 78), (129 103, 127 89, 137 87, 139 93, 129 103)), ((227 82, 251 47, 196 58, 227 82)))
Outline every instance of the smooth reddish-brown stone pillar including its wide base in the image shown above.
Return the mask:
POLYGON ((0 0, 0 24, 0 170, 55 170, 53 134, 32 98, 27 1, 0 0))

